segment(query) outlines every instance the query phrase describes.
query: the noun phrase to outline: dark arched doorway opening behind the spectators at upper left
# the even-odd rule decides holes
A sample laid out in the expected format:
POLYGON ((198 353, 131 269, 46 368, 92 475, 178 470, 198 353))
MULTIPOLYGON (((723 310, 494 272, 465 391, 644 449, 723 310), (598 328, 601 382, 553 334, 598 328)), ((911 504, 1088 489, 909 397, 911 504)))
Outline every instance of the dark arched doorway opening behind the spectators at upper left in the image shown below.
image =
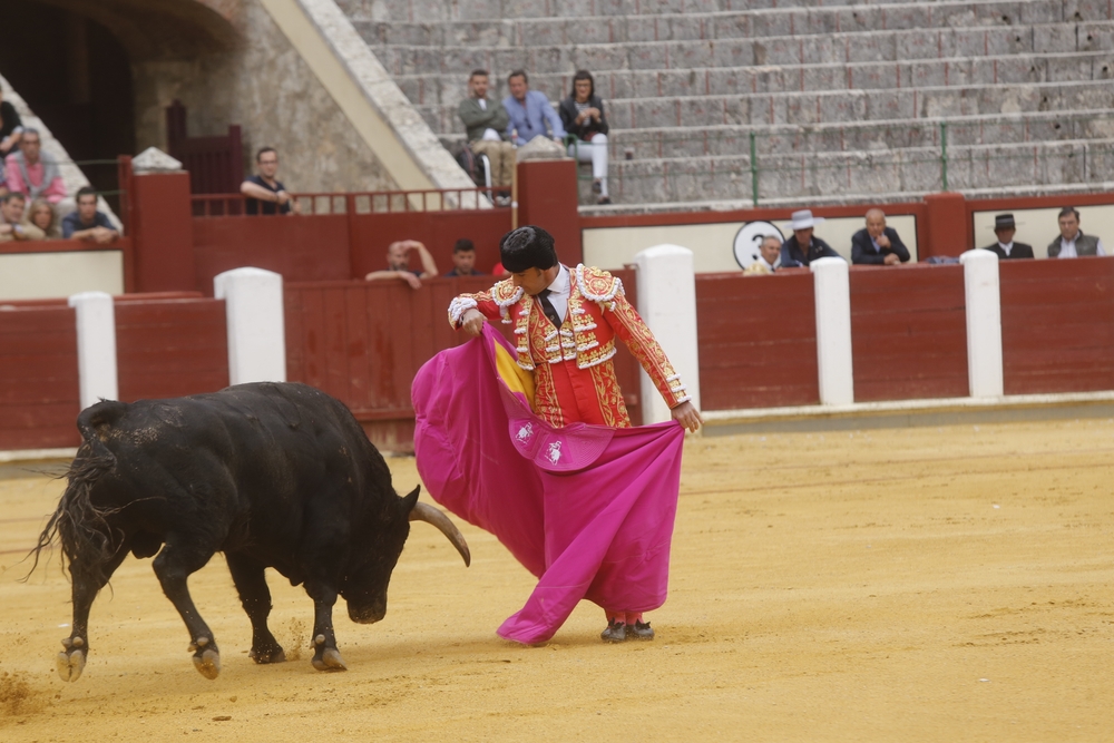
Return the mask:
POLYGON ((131 66, 124 47, 104 26, 36 2, 4 8, 0 43, 3 75, 49 127, 97 190, 118 189, 111 160, 135 154, 131 66))

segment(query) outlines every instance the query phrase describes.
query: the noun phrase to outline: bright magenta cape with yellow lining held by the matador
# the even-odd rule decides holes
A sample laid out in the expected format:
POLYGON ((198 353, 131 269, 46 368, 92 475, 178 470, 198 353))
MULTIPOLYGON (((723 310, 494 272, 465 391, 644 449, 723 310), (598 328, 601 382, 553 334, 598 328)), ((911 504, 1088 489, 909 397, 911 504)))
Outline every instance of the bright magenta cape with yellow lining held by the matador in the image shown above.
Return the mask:
POLYGON ((554 636, 582 598, 615 610, 665 603, 684 429, 544 423, 495 330, 414 378, 418 472, 433 499, 490 531, 537 587, 498 633, 554 636), (520 391, 511 391, 517 388, 520 391))

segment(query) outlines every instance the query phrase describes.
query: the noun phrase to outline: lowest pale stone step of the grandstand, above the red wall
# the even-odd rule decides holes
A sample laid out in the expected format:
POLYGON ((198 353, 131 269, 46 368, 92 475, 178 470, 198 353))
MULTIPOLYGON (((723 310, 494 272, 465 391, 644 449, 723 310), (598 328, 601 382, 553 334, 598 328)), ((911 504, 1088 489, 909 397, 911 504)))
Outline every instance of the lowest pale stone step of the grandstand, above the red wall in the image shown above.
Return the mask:
MULTIPOLYGON (((1102 184, 1114 166, 1114 139, 949 149, 948 188, 1102 184)), ((582 173, 586 173, 582 169, 582 173)), ((750 158, 685 157, 610 164, 608 186, 616 203, 752 198, 750 158)), ((759 162, 762 198, 833 193, 931 193, 942 188, 939 149, 828 153, 759 162)))

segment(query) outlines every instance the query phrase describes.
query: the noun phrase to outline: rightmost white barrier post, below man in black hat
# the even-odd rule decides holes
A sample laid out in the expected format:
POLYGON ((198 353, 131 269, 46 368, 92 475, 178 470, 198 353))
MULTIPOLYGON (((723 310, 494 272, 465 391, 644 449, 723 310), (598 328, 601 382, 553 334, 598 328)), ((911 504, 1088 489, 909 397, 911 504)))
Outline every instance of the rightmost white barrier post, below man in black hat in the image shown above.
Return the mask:
POLYGON ((998 398, 1001 380, 1001 297, 998 256, 977 248, 959 256, 967 297, 967 380, 973 398, 998 398))

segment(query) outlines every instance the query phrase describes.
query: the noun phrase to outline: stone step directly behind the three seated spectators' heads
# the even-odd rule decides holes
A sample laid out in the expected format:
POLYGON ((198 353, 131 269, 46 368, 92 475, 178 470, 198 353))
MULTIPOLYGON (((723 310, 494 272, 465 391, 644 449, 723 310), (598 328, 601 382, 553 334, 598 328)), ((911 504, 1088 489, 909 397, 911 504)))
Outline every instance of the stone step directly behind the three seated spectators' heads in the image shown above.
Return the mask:
MULTIPOLYGON (((1069 82, 1114 77, 1114 52, 952 57, 853 65, 765 65, 691 70, 606 70, 593 74, 605 102, 617 98, 733 95, 807 90, 856 90, 964 85, 1069 82)), ((530 87, 551 100, 568 95, 570 74, 530 75, 530 87)), ((459 76, 400 75, 394 81, 411 102, 456 107, 468 95, 467 72, 459 76)), ((508 95, 506 80, 491 79, 491 98, 508 95)))

